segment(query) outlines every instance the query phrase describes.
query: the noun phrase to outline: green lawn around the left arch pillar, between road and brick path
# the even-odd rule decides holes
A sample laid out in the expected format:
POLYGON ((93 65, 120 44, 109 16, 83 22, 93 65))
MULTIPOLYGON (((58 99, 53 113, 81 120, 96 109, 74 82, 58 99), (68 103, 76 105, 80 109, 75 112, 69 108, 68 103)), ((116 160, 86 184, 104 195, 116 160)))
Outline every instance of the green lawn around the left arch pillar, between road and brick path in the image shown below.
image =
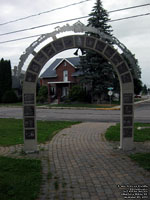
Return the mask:
MULTIPOLYGON (((79 122, 37 121, 38 142, 50 140, 58 131, 79 122)), ((0 119, 0 145, 23 144, 23 121, 21 119, 0 119)))

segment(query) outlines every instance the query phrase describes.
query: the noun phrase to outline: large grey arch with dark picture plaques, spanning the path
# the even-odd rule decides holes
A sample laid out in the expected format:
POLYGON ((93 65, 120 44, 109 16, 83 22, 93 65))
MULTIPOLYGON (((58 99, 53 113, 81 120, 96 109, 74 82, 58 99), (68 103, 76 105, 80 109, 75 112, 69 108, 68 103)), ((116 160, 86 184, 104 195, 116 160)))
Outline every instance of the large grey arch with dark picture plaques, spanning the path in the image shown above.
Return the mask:
POLYGON ((73 48, 96 51, 105 57, 117 72, 121 88, 120 148, 133 148, 133 78, 123 57, 111 45, 101 39, 86 35, 70 35, 56 39, 31 60, 23 84, 24 150, 37 151, 36 83, 43 66, 56 54, 73 48))

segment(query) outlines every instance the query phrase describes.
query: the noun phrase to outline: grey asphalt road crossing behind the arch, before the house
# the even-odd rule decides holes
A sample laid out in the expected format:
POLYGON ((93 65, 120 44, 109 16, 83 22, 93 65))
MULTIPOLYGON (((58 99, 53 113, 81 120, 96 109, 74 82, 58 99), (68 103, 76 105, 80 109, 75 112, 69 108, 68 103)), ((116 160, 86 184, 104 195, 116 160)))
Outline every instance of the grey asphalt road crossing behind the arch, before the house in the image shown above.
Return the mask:
MULTIPOLYGON (((73 120, 87 122, 119 122, 119 110, 37 109, 38 120, 73 120)), ((22 118, 22 108, 0 107, 0 118, 22 118)), ((134 120, 150 123, 150 102, 135 106, 134 120)))

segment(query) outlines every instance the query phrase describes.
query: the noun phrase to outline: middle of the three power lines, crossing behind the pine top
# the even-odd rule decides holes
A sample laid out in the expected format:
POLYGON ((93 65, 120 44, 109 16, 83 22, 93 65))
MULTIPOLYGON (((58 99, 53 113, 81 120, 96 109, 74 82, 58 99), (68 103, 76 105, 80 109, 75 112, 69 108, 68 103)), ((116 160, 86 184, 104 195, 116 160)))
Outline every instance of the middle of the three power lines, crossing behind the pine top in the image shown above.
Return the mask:
MULTIPOLYGON (((87 1, 87 0, 86 0, 87 1)), ((89 1, 89 0, 88 0, 89 1)), ((85 2, 85 1, 81 1, 82 3, 85 2)), ((79 3, 81 3, 79 2, 79 3)), ((78 4, 79 4, 78 3, 78 4)), ((75 3, 77 4, 77 3, 75 3)), ((68 6, 71 6, 71 5, 74 5, 74 4, 70 4, 68 6)), ((133 9, 133 8, 138 8, 138 7, 143 7, 143 6, 148 6, 150 4, 142 4, 142 5, 137 5, 137 6, 132 6, 132 7, 127 7, 127 8, 121 8, 121 9, 117 9, 117 10, 112 10, 112 11, 109 11, 109 13, 112 13, 112 12, 118 12, 118 11, 123 11, 123 10, 128 10, 128 9, 133 9)), ((64 6, 65 7, 65 6, 64 6)), ((57 9, 62 9, 61 8, 57 8, 57 9)), ((83 18, 87 18, 89 16, 84 16, 84 17, 81 17, 81 18, 75 18, 75 19, 70 19, 70 21, 72 20, 78 20, 78 19, 83 19, 83 18)), ((34 26, 34 27, 31 27, 31 28, 26 28, 26 29, 20 29, 20 30, 17 30, 17 31, 11 31, 11 32, 7 32, 7 33, 2 33, 0 34, 0 36, 4 36, 4 35, 10 35, 10 34, 14 34, 14 33, 19 33, 19 32, 24 32, 24 31, 29 31, 29 30, 34 30, 34 29, 37 29, 37 28, 43 28, 45 26, 51 26, 51 25, 55 25, 55 24, 59 24, 59 23, 63 23, 63 22, 68 22, 69 20, 65 20, 65 21, 60 21, 60 22, 54 22, 54 23, 50 23, 50 24, 43 24, 43 25, 39 25, 39 26, 34 26)))

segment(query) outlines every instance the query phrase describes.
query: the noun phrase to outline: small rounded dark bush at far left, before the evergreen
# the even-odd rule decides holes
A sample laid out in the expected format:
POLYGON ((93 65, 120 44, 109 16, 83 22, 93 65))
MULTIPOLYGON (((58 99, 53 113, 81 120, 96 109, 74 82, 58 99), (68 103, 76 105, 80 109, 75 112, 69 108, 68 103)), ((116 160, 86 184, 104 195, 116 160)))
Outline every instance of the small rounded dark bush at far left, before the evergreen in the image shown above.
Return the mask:
POLYGON ((2 97, 2 103, 16 103, 18 98, 13 90, 6 91, 2 97))

